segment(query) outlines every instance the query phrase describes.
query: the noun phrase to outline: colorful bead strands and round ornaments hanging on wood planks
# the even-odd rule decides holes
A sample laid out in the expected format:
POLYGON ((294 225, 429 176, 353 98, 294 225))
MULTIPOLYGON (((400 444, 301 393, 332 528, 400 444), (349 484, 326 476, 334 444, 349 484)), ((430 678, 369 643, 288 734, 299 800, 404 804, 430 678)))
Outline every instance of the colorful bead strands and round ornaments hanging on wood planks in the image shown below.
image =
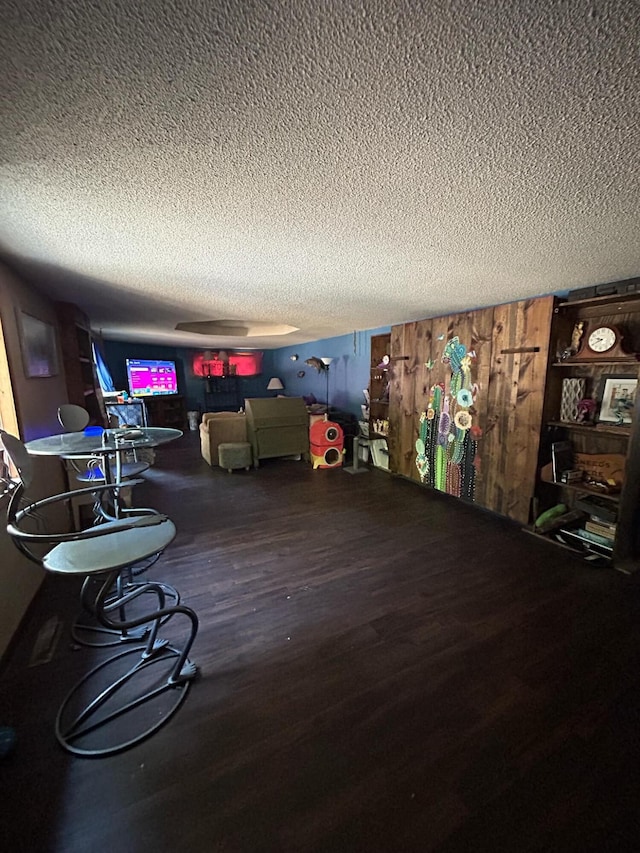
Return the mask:
POLYGON ((431 386, 416 441, 416 466, 422 482, 468 500, 474 499, 477 440, 482 434, 474 423, 478 386, 472 381, 471 364, 475 357, 457 336, 447 341, 442 362, 449 365, 451 377, 431 386))

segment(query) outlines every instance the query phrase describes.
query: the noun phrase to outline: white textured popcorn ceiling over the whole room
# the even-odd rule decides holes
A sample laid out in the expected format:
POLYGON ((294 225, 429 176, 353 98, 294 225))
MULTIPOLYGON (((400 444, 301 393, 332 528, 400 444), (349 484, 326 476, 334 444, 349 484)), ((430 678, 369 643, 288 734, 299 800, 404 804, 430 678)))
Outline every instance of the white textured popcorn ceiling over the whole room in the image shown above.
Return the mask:
POLYGON ((639 8, 4 0, 0 251, 198 347, 638 275, 639 8))

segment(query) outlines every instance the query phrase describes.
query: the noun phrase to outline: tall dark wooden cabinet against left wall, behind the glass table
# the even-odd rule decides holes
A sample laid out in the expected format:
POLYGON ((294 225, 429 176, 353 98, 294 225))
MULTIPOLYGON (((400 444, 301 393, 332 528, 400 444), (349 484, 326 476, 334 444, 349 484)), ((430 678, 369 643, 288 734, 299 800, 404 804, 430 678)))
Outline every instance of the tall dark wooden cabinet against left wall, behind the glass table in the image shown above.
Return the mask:
POLYGON ((55 310, 68 402, 86 409, 92 424, 104 426, 106 415, 93 362, 89 319, 70 302, 56 302, 55 310))

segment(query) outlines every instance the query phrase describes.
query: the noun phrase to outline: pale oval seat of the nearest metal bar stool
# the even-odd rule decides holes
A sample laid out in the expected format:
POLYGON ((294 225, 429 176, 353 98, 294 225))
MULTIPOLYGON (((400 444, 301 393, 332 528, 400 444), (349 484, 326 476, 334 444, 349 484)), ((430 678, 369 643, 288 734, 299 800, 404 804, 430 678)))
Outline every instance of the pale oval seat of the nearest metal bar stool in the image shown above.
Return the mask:
POLYGON ((109 533, 81 539, 75 542, 61 542, 52 548, 42 559, 42 565, 51 572, 60 574, 90 575, 96 572, 125 568, 140 560, 163 551, 176 535, 173 522, 163 516, 151 516, 155 523, 135 524, 139 519, 126 523, 134 526, 129 530, 109 532, 122 526, 121 521, 110 521, 96 527, 96 530, 109 533))

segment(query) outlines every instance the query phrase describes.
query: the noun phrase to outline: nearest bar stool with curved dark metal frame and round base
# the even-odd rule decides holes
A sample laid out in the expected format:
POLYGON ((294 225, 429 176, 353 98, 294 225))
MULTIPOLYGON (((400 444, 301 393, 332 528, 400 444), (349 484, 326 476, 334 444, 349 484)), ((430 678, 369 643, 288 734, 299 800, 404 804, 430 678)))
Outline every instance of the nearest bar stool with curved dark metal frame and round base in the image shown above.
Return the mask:
MULTIPOLYGON (((197 667, 189 659, 198 631, 198 617, 191 608, 167 606, 162 585, 153 582, 113 596, 118 576, 162 552, 173 541, 175 526, 154 511, 129 510, 121 519, 79 532, 42 533, 42 510, 69 500, 74 492, 25 504, 25 492, 33 481, 32 459, 22 442, 3 430, 0 441, 19 474, 7 509, 7 532, 14 544, 47 571, 100 578, 95 598, 83 603, 105 628, 131 631, 150 625, 144 644, 128 647, 90 670, 67 694, 56 719, 58 741, 75 755, 112 755, 128 749, 171 718, 197 675, 197 667), (153 609, 124 620, 115 615, 141 597, 153 602, 153 609), (189 625, 181 648, 158 636, 163 620, 174 616, 182 616, 189 625)), ((117 485, 92 488, 109 490, 117 485)), ((88 590, 85 584, 85 599, 88 590)))

